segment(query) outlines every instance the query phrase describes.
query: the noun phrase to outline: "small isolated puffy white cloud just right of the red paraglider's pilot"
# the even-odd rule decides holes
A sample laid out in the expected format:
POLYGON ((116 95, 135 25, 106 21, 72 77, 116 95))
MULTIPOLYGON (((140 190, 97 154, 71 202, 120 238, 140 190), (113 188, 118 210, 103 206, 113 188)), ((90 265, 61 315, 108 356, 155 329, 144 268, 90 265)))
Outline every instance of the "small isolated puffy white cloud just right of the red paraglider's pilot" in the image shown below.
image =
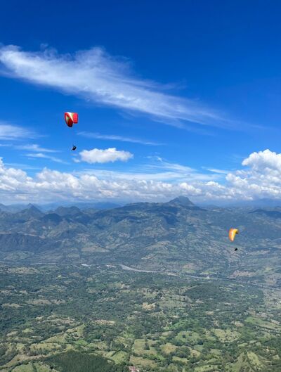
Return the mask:
POLYGON ((101 150, 99 148, 93 148, 92 150, 83 150, 79 153, 81 161, 93 164, 95 162, 116 162, 120 160, 126 162, 127 160, 133 158, 133 154, 129 151, 119 151, 116 148, 106 148, 101 150))

